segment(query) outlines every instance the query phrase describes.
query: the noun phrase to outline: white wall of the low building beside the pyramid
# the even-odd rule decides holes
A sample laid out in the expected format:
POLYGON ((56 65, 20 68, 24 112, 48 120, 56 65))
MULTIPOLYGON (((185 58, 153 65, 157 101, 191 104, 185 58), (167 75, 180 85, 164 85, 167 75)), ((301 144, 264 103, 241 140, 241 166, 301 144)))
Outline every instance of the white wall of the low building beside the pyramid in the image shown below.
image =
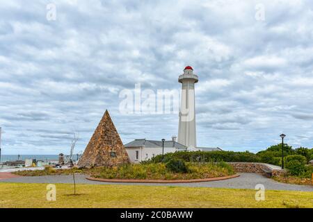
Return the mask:
MULTIPOLYGON (((134 163, 150 160, 153 156, 162 154, 162 148, 128 147, 126 151, 130 161, 134 163), (138 159, 136 158, 136 151, 138 151, 138 159)), ((164 148, 164 154, 174 153, 175 151, 176 148, 164 148)))

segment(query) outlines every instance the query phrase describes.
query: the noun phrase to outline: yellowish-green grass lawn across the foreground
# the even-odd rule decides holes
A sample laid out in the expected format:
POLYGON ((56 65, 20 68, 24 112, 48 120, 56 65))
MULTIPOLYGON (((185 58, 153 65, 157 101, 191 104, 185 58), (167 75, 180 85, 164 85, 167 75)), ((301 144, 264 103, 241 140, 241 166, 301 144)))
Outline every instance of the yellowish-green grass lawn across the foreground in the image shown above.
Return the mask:
POLYGON ((145 185, 56 184, 56 201, 46 199, 47 184, 0 183, 0 207, 313 207, 313 193, 252 189, 157 187, 145 185))

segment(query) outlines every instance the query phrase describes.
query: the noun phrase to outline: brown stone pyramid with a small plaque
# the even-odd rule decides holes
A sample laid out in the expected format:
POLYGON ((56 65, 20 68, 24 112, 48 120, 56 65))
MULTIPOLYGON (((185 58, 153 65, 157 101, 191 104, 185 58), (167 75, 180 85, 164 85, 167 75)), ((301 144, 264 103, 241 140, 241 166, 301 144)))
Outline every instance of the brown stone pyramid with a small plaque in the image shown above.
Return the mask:
POLYGON ((77 165, 113 167, 125 163, 129 163, 129 156, 106 110, 77 165))

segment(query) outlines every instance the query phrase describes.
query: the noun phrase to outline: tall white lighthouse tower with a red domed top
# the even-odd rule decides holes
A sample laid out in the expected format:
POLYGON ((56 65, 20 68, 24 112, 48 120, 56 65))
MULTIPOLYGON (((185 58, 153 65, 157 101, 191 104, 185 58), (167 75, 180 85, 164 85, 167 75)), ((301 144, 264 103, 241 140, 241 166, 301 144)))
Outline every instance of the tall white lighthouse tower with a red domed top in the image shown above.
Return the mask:
POLYGON ((177 142, 195 150, 195 83, 198 83, 198 76, 193 74, 192 67, 186 67, 184 74, 180 75, 178 82, 182 83, 181 104, 179 110, 179 126, 177 142))

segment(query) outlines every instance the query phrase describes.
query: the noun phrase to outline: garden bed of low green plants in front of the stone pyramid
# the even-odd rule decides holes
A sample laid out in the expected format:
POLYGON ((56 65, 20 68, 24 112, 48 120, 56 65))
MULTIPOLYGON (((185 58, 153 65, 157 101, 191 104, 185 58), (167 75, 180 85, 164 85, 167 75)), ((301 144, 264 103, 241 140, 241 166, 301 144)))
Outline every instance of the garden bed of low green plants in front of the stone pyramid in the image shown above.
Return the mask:
POLYGON ((219 178, 234 175, 234 169, 224 162, 186 163, 185 171, 175 171, 164 163, 125 164, 118 167, 93 167, 86 169, 51 169, 41 171, 17 171, 19 176, 49 176, 81 173, 91 178, 120 179, 120 180, 193 180, 219 178))

